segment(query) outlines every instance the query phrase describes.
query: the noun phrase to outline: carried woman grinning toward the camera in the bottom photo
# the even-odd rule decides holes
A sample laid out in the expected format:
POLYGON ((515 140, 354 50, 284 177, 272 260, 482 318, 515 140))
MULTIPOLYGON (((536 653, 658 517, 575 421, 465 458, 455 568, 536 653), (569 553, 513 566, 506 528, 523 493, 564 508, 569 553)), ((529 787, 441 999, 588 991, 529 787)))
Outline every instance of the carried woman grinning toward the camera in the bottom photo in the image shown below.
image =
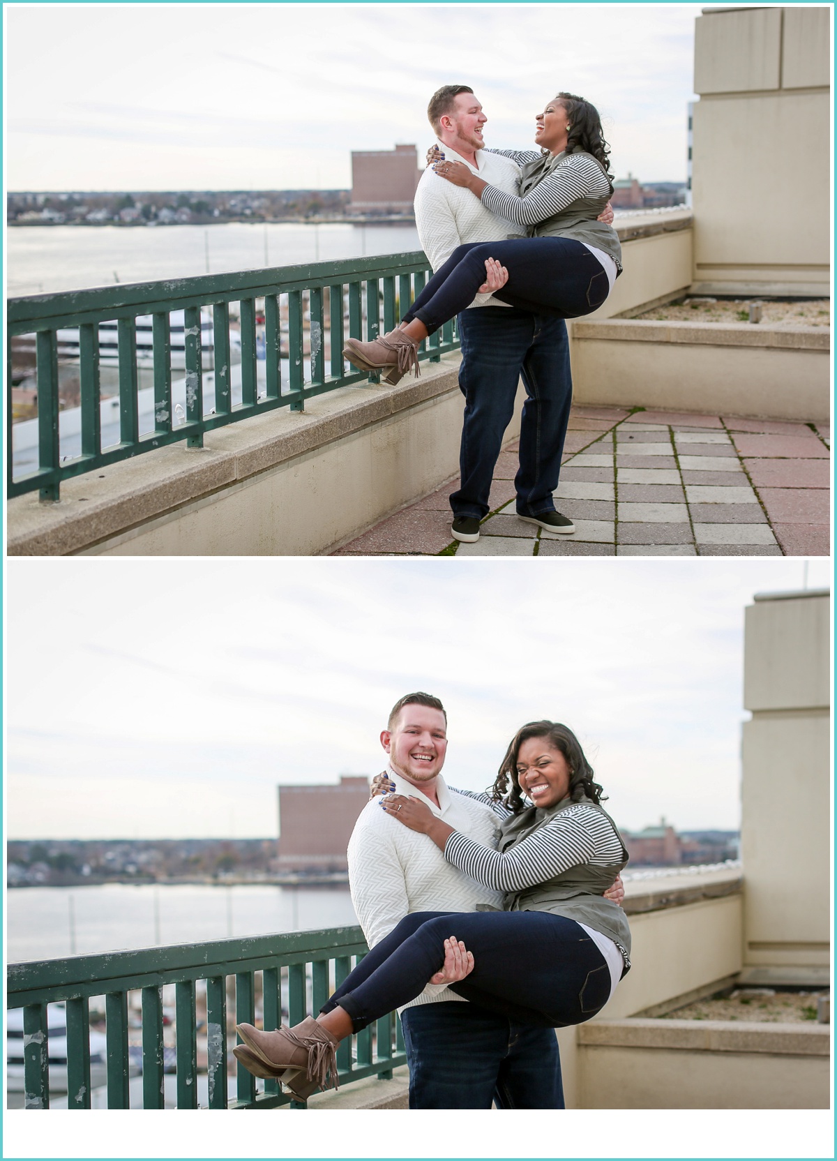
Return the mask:
POLYGON ((389 794, 382 805, 463 873, 505 890, 505 910, 407 915, 317 1019, 274 1032, 238 1025, 245 1047, 233 1052, 250 1072, 279 1076, 305 1099, 335 1081, 341 1039, 407 1003, 428 981, 454 980, 454 991, 479 1007, 548 1027, 580 1024, 607 1003, 630 966, 630 931, 604 892, 628 853, 572 731, 548 721, 524 726, 491 800, 506 815, 497 851, 453 830, 416 798, 389 794))

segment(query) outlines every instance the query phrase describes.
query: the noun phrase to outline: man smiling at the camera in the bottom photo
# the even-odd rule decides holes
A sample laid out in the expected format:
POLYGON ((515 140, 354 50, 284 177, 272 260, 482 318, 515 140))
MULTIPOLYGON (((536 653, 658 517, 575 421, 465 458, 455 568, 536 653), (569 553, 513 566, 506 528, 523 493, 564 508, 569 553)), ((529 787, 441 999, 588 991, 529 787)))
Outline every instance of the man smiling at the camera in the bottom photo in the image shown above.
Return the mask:
MULTIPOLYGON (((427 693, 401 698, 381 744, 397 793, 418 794, 434 814, 478 843, 496 848, 498 816, 466 794, 448 789, 441 770, 447 752, 447 715, 427 693)), ((352 902, 367 943, 380 943, 416 911, 474 911, 502 907, 498 892, 482 887, 446 861, 424 835, 402 827, 374 798, 362 810, 348 844, 352 902)), ((623 895, 621 884, 614 894, 623 895)), ((455 936, 455 923, 450 935, 455 936)), ((447 979, 463 978, 449 969, 447 979)), ((410 1065, 411 1109, 563 1109, 561 1061, 551 1029, 515 1024, 428 985, 401 1012, 410 1065)))

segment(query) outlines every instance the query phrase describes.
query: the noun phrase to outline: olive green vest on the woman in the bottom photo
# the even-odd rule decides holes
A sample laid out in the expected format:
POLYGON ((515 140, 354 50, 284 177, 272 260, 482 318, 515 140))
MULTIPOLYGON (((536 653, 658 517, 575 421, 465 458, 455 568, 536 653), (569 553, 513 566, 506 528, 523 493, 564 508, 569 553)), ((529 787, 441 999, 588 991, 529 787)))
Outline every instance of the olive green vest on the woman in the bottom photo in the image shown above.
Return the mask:
MULTIPOLYGON (((582 799, 584 806, 592 807, 607 819, 619 838, 622 848, 621 863, 609 866, 592 866, 589 863, 579 863, 577 866, 562 871, 561 874, 539 882, 534 887, 507 895, 505 908, 508 911, 551 911, 553 915, 563 915, 568 920, 577 923, 585 923, 593 931, 600 931, 603 936, 613 939, 622 950, 626 958, 626 971, 630 966, 630 928, 628 920, 619 906, 609 899, 604 897, 604 892, 613 886, 613 880, 628 861, 628 852, 619 834, 615 822, 606 810, 592 802, 590 799, 582 799)), ((546 827, 556 814, 578 806, 570 798, 562 799, 556 806, 540 807, 531 806, 520 814, 513 814, 500 824, 499 851, 507 851, 522 842, 533 831, 546 827)))

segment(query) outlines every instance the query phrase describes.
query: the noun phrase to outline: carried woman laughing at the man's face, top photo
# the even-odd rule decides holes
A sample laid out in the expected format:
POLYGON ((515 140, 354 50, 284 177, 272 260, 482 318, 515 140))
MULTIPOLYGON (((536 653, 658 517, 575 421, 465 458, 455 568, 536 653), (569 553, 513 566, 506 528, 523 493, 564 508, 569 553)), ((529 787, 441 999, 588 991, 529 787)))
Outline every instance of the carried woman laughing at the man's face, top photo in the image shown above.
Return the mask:
POLYGON ((346 342, 344 356, 355 367, 389 367, 389 383, 410 367, 418 375, 418 344, 478 291, 493 290, 512 307, 561 318, 589 315, 607 298, 622 267, 616 231, 597 221, 613 193, 599 114, 583 98, 560 93, 535 121, 540 153, 497 151, 522 165, 517 197, 489 186, 462 163, 434 166, 498 217, 528 226, 532 237, 457 246, 399 326, 373 342, 346 342))

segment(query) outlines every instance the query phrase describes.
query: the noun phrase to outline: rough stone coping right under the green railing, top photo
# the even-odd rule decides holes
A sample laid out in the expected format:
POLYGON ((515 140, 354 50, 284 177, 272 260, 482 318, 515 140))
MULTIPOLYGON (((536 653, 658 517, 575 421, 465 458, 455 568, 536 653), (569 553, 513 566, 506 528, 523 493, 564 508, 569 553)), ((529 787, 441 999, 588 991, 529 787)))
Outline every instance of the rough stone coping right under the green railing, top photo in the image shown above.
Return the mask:
POLYGON ((202 448, 186 441, 75 476, 57 504, 37 492, 8 503, 9 556, 65 556, 118 535, 222 488, 316 453, 363 428, 459 391, 459 355, 421 363, 418 380, 397 387, 338 388, 315 396, 303 412, 286 408, 207 432, 202 448))

